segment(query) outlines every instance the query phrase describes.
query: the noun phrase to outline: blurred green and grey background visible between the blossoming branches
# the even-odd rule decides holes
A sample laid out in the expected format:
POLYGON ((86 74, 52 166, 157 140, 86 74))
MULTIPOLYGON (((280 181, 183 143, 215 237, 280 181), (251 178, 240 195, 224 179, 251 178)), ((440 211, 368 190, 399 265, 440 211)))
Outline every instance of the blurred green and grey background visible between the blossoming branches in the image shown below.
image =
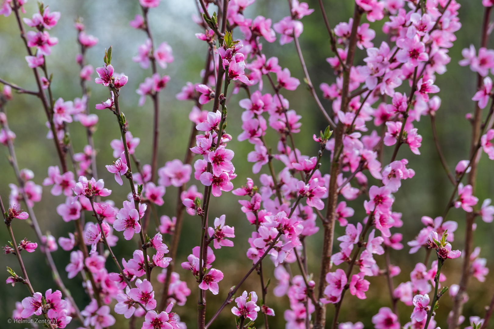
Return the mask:
MULTIPOLYGON (((326 62, 327 57, 333 54, 329 48, 328 34, 322 21, 321 13, 317 1, 309 0, 309 6, 316 8, 310 16, 302 19, 304 23, 304 33, 300 37, 300 43, 308 65, 309 73, 315 86, 321 82, 332 83, 335 79, 332 70, 326 62)), ((353 13, 353 1, 336 1, 326 0, 325 5, 329 16, 329 22, 334 27, 340 21, 348 21, 353 13)), ((462 7, 459 10, 460 22, 463 28, 456 33, 457 40, 454 46, 450 48, 449 55, 451 63, 448 65, 448 72, 443 75, 437 75, 436 84, 441 88, 438 94, 442 99, 442 106, 437 113, 437 124, 440 135, 440 141, 450 167, 454 168, 459 160, 467 158, 468 147, 470 143, 470 124, 464 118, 465 114, 473 110, 471 97, 475 93, 476 77, 468 67, 460 67, 457 63, 461 59, 461 50, 473 43, 478 48, 479 34, 482 24, 483 6, 480 0, 460 1, 462 7)), ((149 76, 150 70, 142 70, 137 63, 131 61, 131 57, 137 53, 137 46, 144 42, 145 35, 142 31, 132 29, 128 22, 133 19, 134 15, 140 13, 137 0, 105 0, 105 1, 61 1, 52 0, 49 4, 51 11, 60 11, 62 13, 58 25, 50 32, 51 36, 59 38, 59 43, 53 47, 52 55, 47 57, 48 70, 53 73, 52 89, 55 98, 62 97, 65 100, 73 100, 81 96, 79 86, 79 67, 75 63, 75 56, 78 53, 76 43, 77 32, 73 27, 74 20, 77 16, 84 18, 84 24, 88 34, 99 38, 99 43, 87 52, 87 62, 93 67, 102 65, 104 49, 113 45, 113 63, 116 72, 124 72, 129 77, 129 82, 121 92, 121 110, 124 111, 129 130, 134 137, 141 139, 137 147, 136 155, 143 163, 149 163, 151 157, 151 140, 152 140, 152 102, 146 101, 143 107, 137 107, 138 95, 135 93, 138 84, 149 76)), ((25 17, 31 17, 36 10, 34 1, 26 5, 27 14, 25 17)), ((166 70, 159 69, 162 74, 169 74, 171 81, 168 83, 165 91, 161 93, 161 117, 160 117, 160 153, 159 165, 163 166, 165 161, 175 158, 183 159, 187 147, 189 136, 190 121, 188 113, 192 108, 192 102, 181 102, 175 99, 175 94, 180 91, 186 81, 199 82, 199 72, 204 67, 206 56, 206 44, 194 36, 194 33, 202 32, 192 20, 191 15, 197 12, 194 0, 166 0, 162 1, 160 6, 151 9, 149 13, 151 30, 156 44, 167 41, 173 47, 175 61, 168 65, 166 70)), ((255 17, 264 15, 272 18, 273 22, 288 16, 289 9, 287 1, 283 0, 258 0, 246 10, 246 17, 255 17)), ((364 21, 366 21, 364 19, 364 21)), ((371 23, 371 28, 376 31, 376 37, 373 40, 375 45, 379 45, 386 37, 381 32, 383 22, 371 23)), ((295 53, 293 43, 280 46, 278 41, 269 44, 262 39, 263 52, 267 57, 278 56, 282 67, 288 67, 292 76, 298 77, 301 81, 303 73, 299 60, 295 53)), ((490 42, 492 44, 492 42, 490 42)), ((0 17, 0 77, 17 83, 27 88, 35 89, 35 82, 32 71, 28 68, 25 56, 24 44, 19 38, 19 31, 15 22, 15 17, 0 17)), ((357 51, 356 63, 362 64, 362 59, 366 57, 364 51, 357 51)), ((94 77, 94 75, 93 75, 94 77)), ((120 138, 120 132, 115 122, 113 114, 109 111, 96 111, 94 104, 107 99, 107 89, 101 85, 89 82, 91 88, 91 97, 88 107, 93 113, 99 116, 97 131, 94 134, 95 145, 98 151, 98 175, 105 180, 105 186, 113 190, 109 199, 114 200, 116 205, 121 207, 122 201, 125 200, 128 192, 127 186, 119 186, 113 179, 113 174, 105 170, 104 165, 110 164, 114 158, 110 141, 120 138)), ((319 88, 317 88, 319 92, 319 88)), ((398 90, 408 90, 407 82, 398 90)), ((263 92, 272 92, 269 84, 264 84, 263 92)), ((320 92, 319 92, 320 93, 320 92)), ((315 102, 306 88, 302 85, 294 92, 283 92, 284 96, 290 101, 290 109, 295 109, 297 113, 303 116, 302 128, 299 134, 295 136, 295 142, 303 154, 315 155, 318 146, 312 141, 312 134, 324 130, 325 120, 322 118, 315 102)), ((247 162, 247 153, 253 149, 252 145, 247 142, 239 143, 236 139, 242 131, 240 114, 242 109, 238 106, 238 101, 245 98, 246 95, 241 91, 234 95, 229 104, 228 115, 228 133, 234 139, 229 147, 235 151, 233 163, 236 167, 238 177, 233 181, 235 187, 245 183, 247 177, 254 181, 258 175, 251 174, 251 163, 247 162)), ((330 103, 323 101, 325 107, 329 110, 330 103)), ((211 104, 205 106, 210 109, 211 104)), ((44 111, 38 99, 29 95, 15 95, 14 100, 7 105, 7 114, 10 128, 16 133, 15 140, 17 157, 20 168, 29 168, 34 171, 34 181, 41 184, 47 176, 47 167, 58 164, 58 158, 51 140, 47 140, 45 135, 47 128, 44 111)), ((368 123, 370 130, 373 128, 372 123, 368 123)), ((423 227, 420 222, 422 216, 432 218, 440 216, 444 210, 447 200, 450 196, 452 186, 449 183, 444 170, 439 162, 437 152, 432 140, 431 126, 428 117, 422 117, 420 122, 416 123, 419 128, 419 134, 422 135, 423 141, 420 151, 422 155, 417 156, 410 152, 408 147, 400 149, 399 157, 406 157, 410 161, 410 168, 416 172, 412 180, 404 181, 402 188, 395 194, 396 201, 393 210, 403 213, 404 226, 399 230, 403 233, 403 242, 413 239, 418 231, 423 227)), ((76 152, 82 151, 86 144, 85 132, 79 123, 70 125, 71 136, 76 152)), ((271 146, 276 147, 277 134, 268 130, 267 140, 271 146)), ((389 147, 388 147, 389 148, 389 147)), ((0 194, 4 200, 8 200, 9 188, 8 183, 15 183, 13 170, 7 160, 8 150, 0 146, 0 194)), ((390 150, 386 149, 384 155, 384 164, 388 163, 390 150)), ((323 174, 329 172, 328 155, 323 158, 321 171, 323 174)), ((275 165, 277 171, 282 169, 280 163, 275 165)), ((481 203, 485 198, 494 196, 494 175, 493 162, 484 155, 480 161, 478 174, 478 185, 476 195, 481 203)), ((261 173, 267 172, 263 168, 261 173)), ((200 184, 192 178, 191 184, 200 184)), ((375 181, 371 178, 371 183, 375 181)), ((49 193, 49 187, 43 188, 42 201, 35 206, 35 212, 40 221, 43 232, 49 231, 57 239, 59 236, 67 236, 67 232, 73 231, 73 223, 65 223, 56 213, 55 208, 58 204, 63 203, 63 196, 54 197, 49 193)), ((201 187, 200 187, 201 189, 201 187)), ((213 296, 207 292, 207 311, 208 319, 223 301, 231 286, 235 285, 240 277, 244 275, 250 267, 251 262, 247 259, 245 252, 248 248, 247 238, 250 236, 252 226, 250 226, 243 213, 240 212, 239 198, 231 193, 223 193, 221 198, 213 198, 211 201, 210 216, 211 218, 219 217, 226 214, 227 223, 235 226, 237 237, 234 238, 234 248, 222 248, 216 250, 216 261, 214 267, 225 273, 225 279, 220 282, 220 293, 213 296), (244 233, 245 232, 245 233, 244 233)), ((158 207, 160 215, 174 216, 176 200, 176 188, 168 187, 165 195, 165 205, 158 207)), ((365 198, 363 196, 348 202, 349 206, 355 209, 355 216, 350 222, 356 223, 365 216, 362 204, 365 198)), ((91 220, 86 215, 86 220, 91 220)), ((463 248, 463 227, 465 214, 462 210, 453 209, 448 219, 458 221, 459 228, 456 233, 456 240, 453 243, 454 249, 463 248)), ((475 245, 482 247, 481 257, 488 258, 488 266, 491 265, 494 258, 493 245, 488 242, 493 238, 492 224, 486 224, 477 220, 478 226, 475 231, 475 245)), ((319 222, 318 222, 319 224, 319 222)), ((16 220, 13 223, 13 229, 18 240, 24 236, 36 241, 36 237, 31 228, 24 222, 16 220)), ((151 229, 153 224, 151 223, 151 229)), ((396 231, 393 230, 393 231, 396 231)), ((336 227, 336 236, 341 235, 344 228, 336 227)), ((137 247, 135 244, 127 242, 120 233, 117 233, 120 241, 114 248, 117 258, 129 258, 133 250, 137 247)), ((180 249, 178 251, 177 263, 185 261, 191 249, 199 244, 200 222, 198 218, 185 215, 182 237, 180 240, 180 249)), ((134 236, 134 238, 137 238, 134 236)), ((0 230, 0 239, 3 244, 9 240, 7 231, 0 230)), ((169 237, 165 237, 169 241, 169 237)), ((320 253, 322 245, 321 232, 308 239, 309 254, 309 272, 319 277, 320 253)), ((335 244, 335 251, 337 244, 335 244)), ((392 251, 392 262, 399 265, 402 269, 401 274, 394 278, 395 287, 401 283, 410 280, 410 271, 417 261, 424 260, 424 251, 420 250, 414 255, 408 254, 409 248, 406 246, 402 251, 392 251)), ((88 303, 87 296, 81 287, 81 279, 76 277, 68 280, 64 270, 69 261, 69 252, 61 248, 53 253, 58 270, 61 276, 73 293, 78 306, 82 309, 88 303)), ((54 288, 55 284, 51 280, 51 275, 45 260, 41 253, 37 251, 32 254, 24 254, 28 274, 36 291, 44 292, 46 289, 54 288)), ((383 256, 376 256, 378 264, 384 267, 383 256)), ((432 260, 432 259, 431 259, 432 260)), ((270 277, 271 286, 267 296, 267 304, 275 309, 276 317, 270 317, 270 327, 273 329, 284 328, 285 320, 283 311, 288 307, 288 299, 275 297, 271 290, 276 285, 276 279, 272 275, 273 266, 270 261, 266 261, 265 276, 270 277)), ((1 268, 10 266, 19 271, 17 261, 12 255, 0 256, 1 268)), ((341 265, 341 266, 344 266, 341 265)), ((430 264, 429 264, 430 266, 430 264)), ((428 267, 429 267, 428 266, 428 267)), ((446 285, 457 283, 459 279, 459 269, 461 259, 447 261, 443 267, 443 272, 448 277, 446 285)), ((110 260, 107 262, 109 270, 114 269, 114 263, 110 260)), ((292 266, 294 274, 298 274, 296 266, 292 266)), ((154 286, 156 291, 161 290, 161 284, 156 282, 156 275, 153 273, 154 286)), ((192 294, 189 296, 185 306, 176 306, 174 310, 180 315, 182 321, 185 321, 189 328, 196 327, 196 309, 197 309, 197 283, 190 272, 177 268, 181 279, 188 282, 192 294)), ((7 272, 1 275, 2 280, 8 276, 7 272)), ((348 295, 343 303, 340 321, 362 321, 366 328, 372 328, 371 317, 377 313, 382 306, 390 306, 390 297, 387 292, 386 279, 384 277, 367 278, 371 281, 371 288, 367 292, 368 298, 359 300, 355 296, 348 295)), ((483 317, 484 307, 494 292, 494 280, 489 275, 485 283, 479 283, 476 279, 470 281, 469 296, 470 300, 465 305, 464 315, 468 318, 471 315, 483 317)), ((15 301, 22 300, 28 295, 27 290, 17 285, 0 285, 0 328, 24 328, 24 325, 7 324, 7 319, 11 317, 15 301)), ((253 273, 244 284, 243 290, 255 290, 260 294, 260 285, 257 275, 253 273)), ((452 300, 449 296, 441 299, 441 307, 437 312, 436 320, 438 326, 446 326, 446 316, 451 309, 452 300)), ((234 317, 230 313, 231 306, 226 307, 221 316, 211 328, 234 328, 234 317)), ((333 306, 328 306, 328 317, 331 319, 333 306)), ((113 307, 112 307, 113 310, 113 307)), ((401 324, 410 321, 412 307, 407 307, 399 302, 401 324)), ((116 315, 117 324, 114 328, 125 328, 127 320, 121 315, 116 315)), ((76 328, 78 321, 73 320, 67 328, 76 328)), ((257 321, 260 328, 262 326, 262 317, 257 321)))

